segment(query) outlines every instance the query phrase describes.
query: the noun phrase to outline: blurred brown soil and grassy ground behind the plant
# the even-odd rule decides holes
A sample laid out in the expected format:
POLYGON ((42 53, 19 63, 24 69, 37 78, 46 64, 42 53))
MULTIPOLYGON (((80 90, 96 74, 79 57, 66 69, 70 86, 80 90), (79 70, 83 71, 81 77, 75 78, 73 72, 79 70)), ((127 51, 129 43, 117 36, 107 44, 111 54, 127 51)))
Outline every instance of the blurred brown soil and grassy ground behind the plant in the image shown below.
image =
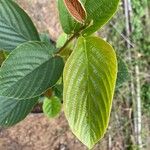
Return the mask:
MULTIPOLYGON (((54 41, 62 33, 56 0, 16 0, 39 32, 54 41)), ((117 14, 97 33, 128 65, 130 79, 116 89, 105 137, 94 150, 150 150, 150 1, 122 0, 117 14)), ((48 119, 31 114, 0 129, 0 150, 86 150, 71 133, 63 112, 48 119)))

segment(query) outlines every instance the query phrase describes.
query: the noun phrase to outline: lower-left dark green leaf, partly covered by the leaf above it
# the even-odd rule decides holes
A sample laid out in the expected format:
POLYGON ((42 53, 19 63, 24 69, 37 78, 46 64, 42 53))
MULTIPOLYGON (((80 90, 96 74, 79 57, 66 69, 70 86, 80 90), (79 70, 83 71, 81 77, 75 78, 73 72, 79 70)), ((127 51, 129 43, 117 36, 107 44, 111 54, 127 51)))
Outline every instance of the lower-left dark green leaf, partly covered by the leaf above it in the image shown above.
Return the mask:
POLYGON ((38 98, 19 100, 0 96, 0 126, 10 127, 23 120, 37 101, 38 98))

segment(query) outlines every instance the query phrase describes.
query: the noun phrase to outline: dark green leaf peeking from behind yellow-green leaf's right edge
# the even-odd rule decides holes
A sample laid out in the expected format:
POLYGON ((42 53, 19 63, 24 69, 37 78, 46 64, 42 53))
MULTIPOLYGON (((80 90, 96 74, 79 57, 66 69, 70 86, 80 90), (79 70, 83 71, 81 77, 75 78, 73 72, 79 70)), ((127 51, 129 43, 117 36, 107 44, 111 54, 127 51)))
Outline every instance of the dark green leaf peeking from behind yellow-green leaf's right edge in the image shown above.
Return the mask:
POLYGON ((116 88, 118 89, 124 82, 128 81, 130 78, 127 64, 118 57, 118 74, 116 88))

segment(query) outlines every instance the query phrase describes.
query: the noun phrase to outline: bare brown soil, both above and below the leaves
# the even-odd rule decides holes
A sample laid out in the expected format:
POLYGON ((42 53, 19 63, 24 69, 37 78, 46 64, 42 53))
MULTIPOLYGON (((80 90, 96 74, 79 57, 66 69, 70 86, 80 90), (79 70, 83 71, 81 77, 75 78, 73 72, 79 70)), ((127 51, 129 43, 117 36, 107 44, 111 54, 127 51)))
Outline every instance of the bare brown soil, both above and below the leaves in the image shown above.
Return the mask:
MULTIPOLYGON (((56 0, 17 1, 40 32, 48 32, 53 40, 57 39, 61 27, 56 0)), ((106 140, 102 140, 95 148, 106 149, 106 140)), ((42 114, 31 114, 12 128, 0 129, 0 150, 86 150, 86 147, 71 133, 63 113, 52 120, 42 114)))

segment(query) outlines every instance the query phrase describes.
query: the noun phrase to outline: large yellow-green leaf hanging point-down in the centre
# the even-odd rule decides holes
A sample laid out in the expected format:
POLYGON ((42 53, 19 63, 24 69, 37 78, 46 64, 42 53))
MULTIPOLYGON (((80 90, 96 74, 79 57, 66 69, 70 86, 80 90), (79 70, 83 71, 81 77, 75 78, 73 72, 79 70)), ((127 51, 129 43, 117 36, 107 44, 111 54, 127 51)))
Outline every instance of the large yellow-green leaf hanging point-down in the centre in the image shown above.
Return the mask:
POLYGON ((116 54, 98 37, 81 37, 63 76, 66 118, 79 140, 92 148, 108 126, 117 77, 116 54))

